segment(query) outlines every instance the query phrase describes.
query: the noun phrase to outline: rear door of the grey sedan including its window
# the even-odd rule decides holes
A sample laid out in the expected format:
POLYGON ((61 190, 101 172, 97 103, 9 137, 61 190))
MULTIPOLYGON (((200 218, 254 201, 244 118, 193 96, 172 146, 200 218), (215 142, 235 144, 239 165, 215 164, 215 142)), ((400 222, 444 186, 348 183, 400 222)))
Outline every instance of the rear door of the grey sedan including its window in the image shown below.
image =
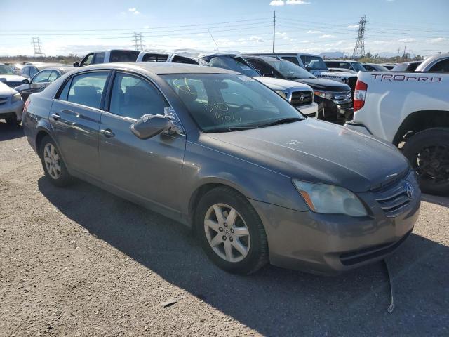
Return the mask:
POLYGON ((109 70, 75 74, 65 81, 51 106, 55 140, 67 166, 98 177, 98 138, 109 70))

